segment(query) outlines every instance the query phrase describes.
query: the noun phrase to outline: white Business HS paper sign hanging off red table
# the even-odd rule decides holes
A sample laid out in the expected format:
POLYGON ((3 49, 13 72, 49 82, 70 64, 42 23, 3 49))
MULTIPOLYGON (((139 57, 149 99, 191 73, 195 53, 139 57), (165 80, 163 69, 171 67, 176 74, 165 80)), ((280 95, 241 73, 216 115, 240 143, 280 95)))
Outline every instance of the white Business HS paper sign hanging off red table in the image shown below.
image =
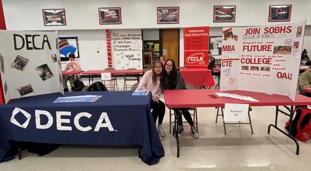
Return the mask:
POLYGON ((249 104, 225 103, 224 121, 246 121, 249 104))

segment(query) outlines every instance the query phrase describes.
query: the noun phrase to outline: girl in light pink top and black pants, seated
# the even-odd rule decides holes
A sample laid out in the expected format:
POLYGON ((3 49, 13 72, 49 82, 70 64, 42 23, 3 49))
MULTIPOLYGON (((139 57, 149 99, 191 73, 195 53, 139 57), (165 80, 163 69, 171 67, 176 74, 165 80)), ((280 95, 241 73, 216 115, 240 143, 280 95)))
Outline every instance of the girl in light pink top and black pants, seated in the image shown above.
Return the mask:
POLYGON ((157 132, 159 134, 160 140, 165 137, 165 131, 162 127, 162 122, 165 115, 165 104, 159 100, 161 91, 161 79, 163 79, 163 64, 161 61, 155 61, 152 71, 147 71, 139 82, 136 90, 149 90, 152 93, 152 103, 151 108, 152 116, 156 122, 159 117, 157 124, 157 132))

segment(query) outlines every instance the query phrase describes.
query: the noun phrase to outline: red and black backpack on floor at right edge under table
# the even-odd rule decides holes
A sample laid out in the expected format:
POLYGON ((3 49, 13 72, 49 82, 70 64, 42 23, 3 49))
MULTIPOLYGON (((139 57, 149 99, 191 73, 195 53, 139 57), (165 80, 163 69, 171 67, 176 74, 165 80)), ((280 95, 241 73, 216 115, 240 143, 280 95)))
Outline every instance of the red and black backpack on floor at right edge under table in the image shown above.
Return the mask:
MULTIPOLYGON (((311 137, 311 110, 308 107, 298 107, 294 110, 296 113, 292 121, 291 135, 298 141, 306 142, 311 137)), ((290 121, 285 124, 285 129, 289 131, 290 121)))

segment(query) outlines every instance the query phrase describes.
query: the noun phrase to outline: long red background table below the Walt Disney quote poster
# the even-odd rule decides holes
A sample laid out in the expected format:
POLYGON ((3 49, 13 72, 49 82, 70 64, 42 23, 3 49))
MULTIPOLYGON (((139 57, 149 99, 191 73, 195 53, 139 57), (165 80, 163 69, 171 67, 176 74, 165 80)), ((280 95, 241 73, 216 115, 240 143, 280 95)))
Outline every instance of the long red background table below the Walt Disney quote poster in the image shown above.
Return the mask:
POLYGON ((92 83, 94 82, 93 78, 96 75, 101 75, 102 73, 110 72, 111 76, 116 74, 132 74, 137 78, 139 82, 139 74, 144 73, 144 69, 116 69, 116 70, 88 70, 81 73, 82 75, 88 75, 88 84, 90 85, 91 79, 92 83))

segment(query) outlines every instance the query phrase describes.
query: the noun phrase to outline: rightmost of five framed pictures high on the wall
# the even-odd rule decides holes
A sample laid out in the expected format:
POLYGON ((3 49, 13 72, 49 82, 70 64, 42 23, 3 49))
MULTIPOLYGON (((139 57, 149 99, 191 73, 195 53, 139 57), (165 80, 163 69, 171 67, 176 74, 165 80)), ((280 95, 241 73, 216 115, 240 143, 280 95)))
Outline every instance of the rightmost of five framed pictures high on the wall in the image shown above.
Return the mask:
POLYGON ((270 5, 269 22, 290 21, 292 5, 270 5))

